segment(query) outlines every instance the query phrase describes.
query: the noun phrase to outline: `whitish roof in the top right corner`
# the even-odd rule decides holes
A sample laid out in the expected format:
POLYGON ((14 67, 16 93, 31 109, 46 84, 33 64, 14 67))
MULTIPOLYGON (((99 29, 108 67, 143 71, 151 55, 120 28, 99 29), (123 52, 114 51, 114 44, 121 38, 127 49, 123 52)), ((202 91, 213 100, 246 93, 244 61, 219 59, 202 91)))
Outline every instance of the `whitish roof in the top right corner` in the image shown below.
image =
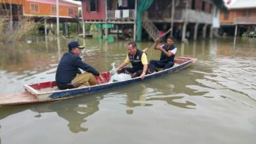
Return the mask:
POLYGON ((228 9, 252 9, 256 8, 256 0, 236 0, 228 9))

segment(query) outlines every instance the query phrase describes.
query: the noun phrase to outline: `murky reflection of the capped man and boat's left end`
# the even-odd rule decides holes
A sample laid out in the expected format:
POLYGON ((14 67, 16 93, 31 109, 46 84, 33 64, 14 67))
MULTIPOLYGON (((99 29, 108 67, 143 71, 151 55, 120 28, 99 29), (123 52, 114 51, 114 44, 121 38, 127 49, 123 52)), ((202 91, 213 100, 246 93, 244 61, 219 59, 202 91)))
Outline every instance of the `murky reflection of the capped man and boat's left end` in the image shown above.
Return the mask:
POLYGON ((88 128, 84 128, 81 125, 87 121, 87 117, 99 110, 98 105, 102 98, 102 96, 88 96, 87 98, 54 101, 40 105, 3 107, 0 109, 0 120, 29 109, 30 111, 37 113, 34 116, 35 118, 41 118, 43 113, 56 113, 58 117, 68 121, 67 126, 71 132, 86 132, 88 128))

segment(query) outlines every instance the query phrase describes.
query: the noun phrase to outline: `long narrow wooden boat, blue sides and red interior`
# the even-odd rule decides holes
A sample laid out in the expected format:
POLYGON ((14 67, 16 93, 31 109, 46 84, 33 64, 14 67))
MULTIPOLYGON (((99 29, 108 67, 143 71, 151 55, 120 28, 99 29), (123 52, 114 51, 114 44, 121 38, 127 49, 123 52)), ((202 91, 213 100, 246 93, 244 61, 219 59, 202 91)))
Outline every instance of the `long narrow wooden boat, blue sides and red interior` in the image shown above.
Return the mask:
MULTIPOLYGON (((158 77, 166 73, 174 73, 176 71, 180 71, 181 69, 184 69, 185 67, 191 65, 196 60, 196 58, 175 58, 175 65, 173 67, 158 71, 156 73, 148 74, 146 75, 144 80, 158 77)), ((74 98, 76 96, 84 96, 85 94, 98 92, 100 90, 107 90, 116 86, 123 86, 126 84, 131 84, 133 82, 142 81, 140 77, 136 77, 125 81, 109 82, 109 72, 101 73, 101 75, 104 77, 104 79, 106 79, 104 83, 97 84, 95 86, 79 86, 78 88, 67 90, 59 90, 56 86, 55 81, 24 85, 25 92, 0 96, 0 105, 20 105, 27 103, 39 103, 43 101, 56 101, 59 99, 74 98)), ((99 81, 98 77, 96 77, 96 79, 99 81)))

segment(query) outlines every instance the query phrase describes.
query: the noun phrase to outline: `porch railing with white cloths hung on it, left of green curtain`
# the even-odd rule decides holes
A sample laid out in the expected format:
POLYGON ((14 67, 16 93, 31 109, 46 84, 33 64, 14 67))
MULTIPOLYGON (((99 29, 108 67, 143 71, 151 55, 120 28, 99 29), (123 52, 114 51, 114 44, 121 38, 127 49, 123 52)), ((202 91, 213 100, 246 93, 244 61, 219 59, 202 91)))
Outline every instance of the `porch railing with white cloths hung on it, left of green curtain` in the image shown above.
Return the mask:
POLYGON ((108 10, 108 20, 135 20, 135 10, 108 10))

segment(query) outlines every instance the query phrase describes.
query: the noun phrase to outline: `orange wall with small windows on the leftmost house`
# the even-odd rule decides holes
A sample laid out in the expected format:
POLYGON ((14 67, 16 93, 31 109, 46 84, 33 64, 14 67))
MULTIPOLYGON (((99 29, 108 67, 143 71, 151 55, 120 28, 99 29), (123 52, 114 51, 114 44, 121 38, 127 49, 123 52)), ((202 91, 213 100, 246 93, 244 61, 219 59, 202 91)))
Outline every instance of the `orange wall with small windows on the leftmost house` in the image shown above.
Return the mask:
MULTIPOLYGON (((45 15, 47 15, 47 16, 56 16, 56 14, 51 12, 51 6, 56 6, 56 5, 26 1, 24 3, 24 14, 39 15, 39 16, 45 16, 45 15), (39 12, 32 12, 30 10, 30 5, 31 4, 38 4, 39 12)), ((59 5, 59 15, 60 16, 68 16, 68 17, 78 16, 78 7, 76 5, 64 6, 64 5, 60 4, 59 5), (74 15, 73 16, 68 14, 68 9, 74 9, 74 15)))

